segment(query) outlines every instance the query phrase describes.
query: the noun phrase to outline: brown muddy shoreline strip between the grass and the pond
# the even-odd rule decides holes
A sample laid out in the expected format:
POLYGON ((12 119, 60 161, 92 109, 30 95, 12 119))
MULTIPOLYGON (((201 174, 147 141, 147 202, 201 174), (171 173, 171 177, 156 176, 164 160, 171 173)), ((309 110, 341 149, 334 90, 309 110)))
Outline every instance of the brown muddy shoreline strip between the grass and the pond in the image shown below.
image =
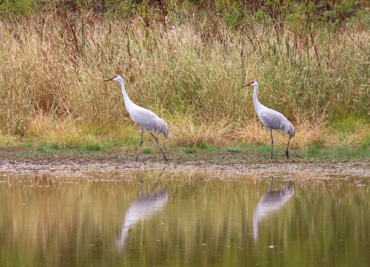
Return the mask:
POLYGON ((2 149, 0 152, 1 171, 63 171, 63 170, 134 170, 160 169, 235 173, 246 172, 326 172, 343 174, 370 175, 369 159, 322 159, 305 158, 296 153, 287 159, 276 155, 269 159, 261 153, 232 153, 198 151, 184 153, 173 149, 168 153, 169 161, 164 163, 161 155, 141 154, 135 162, 135 151, 108 151, 83 154, 55 153, 52 155, 38 154, 34 149, 2 149))

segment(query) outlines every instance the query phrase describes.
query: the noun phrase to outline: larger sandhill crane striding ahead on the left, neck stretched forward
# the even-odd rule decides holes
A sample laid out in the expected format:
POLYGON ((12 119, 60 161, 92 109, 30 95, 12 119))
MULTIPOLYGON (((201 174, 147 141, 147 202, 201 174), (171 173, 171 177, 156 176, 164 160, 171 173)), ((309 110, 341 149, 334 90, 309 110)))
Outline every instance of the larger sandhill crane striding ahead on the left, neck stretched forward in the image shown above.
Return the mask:
POLYGON ((139 156, 140 148, 142 144, 142 131, 143 130, 147 131, 153 136, 155 142, 157 142, 158 147, 162 152, 164 160, 167 161, 168 159, 166 155, 164 154, 161 146, 159 145, 157 137, 155 137, 154 134, 151 132, 153 131, 154 133, 157 133, 157 134, 163 133, 165 138, 167 138, 168 136, 167 123, 164 121, 164 119, 159 118, 157 115, 155 115, 153 112, 149 111, 148 109, 142 108, 132 103, 132 101, 127 96, 127 93, 125 90, 125 84, 120 75, 116 75, 110 79, 106 79, 104 80, 104 82, 108 80, 115 80, 121 84, 122 95, 125 101, 125 107, 127 109, 127 112, 130 114, 132 121, 136 122, 140 126, 141 140, 140 140, 139 150, 138 150, 138 154, 136 155, 135 161, 138 161, 138 156, 139 156))

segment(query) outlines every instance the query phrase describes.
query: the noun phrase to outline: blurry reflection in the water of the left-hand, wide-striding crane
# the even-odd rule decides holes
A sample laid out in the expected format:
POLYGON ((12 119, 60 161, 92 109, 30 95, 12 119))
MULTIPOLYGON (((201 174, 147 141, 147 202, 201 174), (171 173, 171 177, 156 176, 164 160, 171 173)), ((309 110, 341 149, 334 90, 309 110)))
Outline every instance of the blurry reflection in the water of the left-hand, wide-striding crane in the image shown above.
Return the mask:
POLYGON ((141 194, 137 200, 131 203, 130 207, 126 211, 121 238, 117 241, 118 250, 123 250, 129 229, 133 228, 137 223, 139 223, 139 221, 143 221, 157 214, 157 212, 162 210, 167 203, 168 187, 158 189, 159 179, 153 186, 151 192, 146 194, 143 193, 143 182, 141 178, 140 182, 141 194))

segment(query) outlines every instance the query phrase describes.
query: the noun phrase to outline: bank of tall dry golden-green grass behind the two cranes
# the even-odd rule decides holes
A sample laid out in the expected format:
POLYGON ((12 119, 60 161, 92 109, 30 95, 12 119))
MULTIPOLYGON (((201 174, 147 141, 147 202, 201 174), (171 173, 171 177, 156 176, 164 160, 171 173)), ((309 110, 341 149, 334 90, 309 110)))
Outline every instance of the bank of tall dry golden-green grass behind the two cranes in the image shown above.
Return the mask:
MULTIPOLYGON (((292 149, 369 152, 366 10, 335 29, 291 17, 279 28, 257 19, 232 23, 189 4, 171 11, 94 18, 88 10, 57 10, 1 19, 0 146, 136 147, 139 129, 119 85, 102 82, 120 74, 131 100, 168 123, 168 148, 270 144, 252 91, 241 88, 257 80, 260 102, 295 126, 292 149)), ((276 148, 286 142, 275 134, 276 148)))

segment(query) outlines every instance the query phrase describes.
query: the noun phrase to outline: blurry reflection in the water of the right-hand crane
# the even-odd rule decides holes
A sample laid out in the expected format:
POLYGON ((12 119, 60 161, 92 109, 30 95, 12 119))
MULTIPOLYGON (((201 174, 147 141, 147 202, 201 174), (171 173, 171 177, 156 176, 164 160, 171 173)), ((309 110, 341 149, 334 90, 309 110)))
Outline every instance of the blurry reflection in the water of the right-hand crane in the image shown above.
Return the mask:
POLYGON ((258 223, 264 217, 267 217, 273 212, 279 210, 279 208, 281 208, 294 194, 293 181, 289 181, 289 184, 280 190, 273 190, 273 180, 274 178, 272 177, 269 191, 262 196, 253 212, 253 232, 255 242, 258 241, 258 223))

